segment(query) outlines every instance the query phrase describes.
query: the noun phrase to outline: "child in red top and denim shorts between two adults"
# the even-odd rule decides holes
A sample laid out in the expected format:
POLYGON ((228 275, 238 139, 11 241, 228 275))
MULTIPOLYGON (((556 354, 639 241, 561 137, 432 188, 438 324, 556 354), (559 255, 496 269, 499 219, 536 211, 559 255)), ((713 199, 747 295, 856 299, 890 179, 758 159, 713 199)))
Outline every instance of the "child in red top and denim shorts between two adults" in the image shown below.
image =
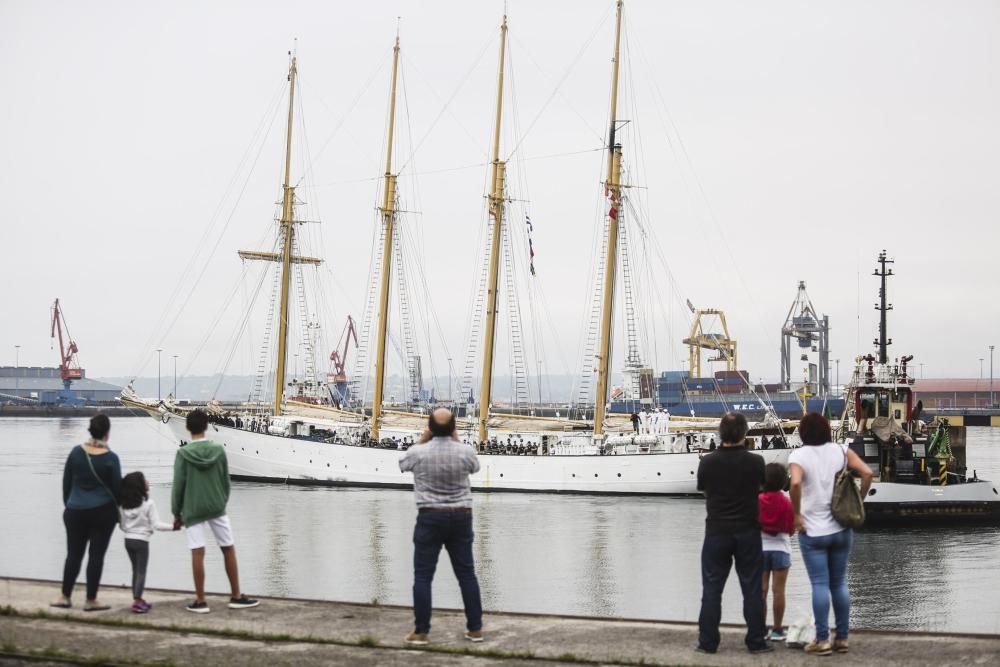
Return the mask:
POLYGON ((760 504, 761 547, 764 550, 764 604, 767 589, 774 578, 774 625, 771 641, 784 641, 785 582, 792 566, 792 540, 795 515, 792 502, 784 489, 788 485, 788 471, 780 463, 768 463, 764 468, 764 491, 757 497, 760 504))

